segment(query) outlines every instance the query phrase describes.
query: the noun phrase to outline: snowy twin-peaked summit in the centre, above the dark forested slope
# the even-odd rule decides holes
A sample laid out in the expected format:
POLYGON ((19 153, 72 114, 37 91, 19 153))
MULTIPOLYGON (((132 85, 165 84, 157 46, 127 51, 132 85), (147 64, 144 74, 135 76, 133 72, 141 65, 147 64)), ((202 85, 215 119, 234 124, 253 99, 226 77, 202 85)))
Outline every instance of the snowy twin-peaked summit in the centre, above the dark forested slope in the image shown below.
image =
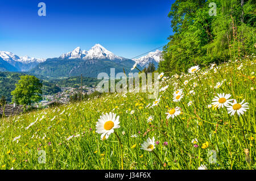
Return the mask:
POLYGON ((123 60, 125 58, 116 56, 100 44, 94 45, 90 50, 81 50, 80 47, 75 48, 72 52, 61 54, 60 58, 79 58, 84 60, 96 59, 96 60, 123 60))

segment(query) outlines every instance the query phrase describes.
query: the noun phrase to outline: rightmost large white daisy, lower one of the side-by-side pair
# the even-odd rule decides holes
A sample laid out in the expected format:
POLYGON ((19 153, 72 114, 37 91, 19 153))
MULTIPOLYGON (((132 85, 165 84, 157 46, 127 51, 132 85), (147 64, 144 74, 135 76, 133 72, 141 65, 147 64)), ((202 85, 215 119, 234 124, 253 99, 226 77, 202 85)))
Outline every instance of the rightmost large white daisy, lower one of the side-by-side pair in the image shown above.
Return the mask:
POLYGON ((233 116, 236 112, 238 116, 243 115, 243 113, 249 109, 248 103, 243 102, 245 102, 245 99, 243 99, 241 103, 237 103, 237 100, 234 99, 234 102, 231 103, 231 105, 226 106, 228 113, 231 113, 231 116, 233 116))

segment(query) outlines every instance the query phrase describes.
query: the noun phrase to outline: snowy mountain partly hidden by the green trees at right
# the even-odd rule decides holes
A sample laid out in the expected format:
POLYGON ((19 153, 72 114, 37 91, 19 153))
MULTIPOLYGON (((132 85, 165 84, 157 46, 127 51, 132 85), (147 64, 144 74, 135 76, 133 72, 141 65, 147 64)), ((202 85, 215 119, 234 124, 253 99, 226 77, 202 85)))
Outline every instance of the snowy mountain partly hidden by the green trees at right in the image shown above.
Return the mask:
POLYGON ((155 50, 155 52, 150 52, 146 56, 143 56, 141 58, 133 59, 137 64, 141 65, 143 68, 148 66, 149 63, 155 64, 155 66, 158 66, 160 62, 162 51, 155 50))

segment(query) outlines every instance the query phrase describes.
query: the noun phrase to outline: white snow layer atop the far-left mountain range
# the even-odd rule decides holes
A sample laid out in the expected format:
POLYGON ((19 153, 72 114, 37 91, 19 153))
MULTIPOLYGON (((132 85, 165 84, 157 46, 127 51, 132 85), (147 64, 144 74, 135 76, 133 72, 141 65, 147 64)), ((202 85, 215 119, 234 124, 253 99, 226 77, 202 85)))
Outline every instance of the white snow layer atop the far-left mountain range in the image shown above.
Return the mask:
POLYGON ((25 64, 31 63, 31 62, 44 62, 46 61, 46 59, 44 58, 34 58, 34 57, 28 57, 28 56, 24 56, 24 57, 19 57, 16 56, 15 54, 11 53, 11 52, 5 52, 5 51, 0 51, 0 57, 5 60, 5 61, 16 61, 16 62, 22 62, 25 64))

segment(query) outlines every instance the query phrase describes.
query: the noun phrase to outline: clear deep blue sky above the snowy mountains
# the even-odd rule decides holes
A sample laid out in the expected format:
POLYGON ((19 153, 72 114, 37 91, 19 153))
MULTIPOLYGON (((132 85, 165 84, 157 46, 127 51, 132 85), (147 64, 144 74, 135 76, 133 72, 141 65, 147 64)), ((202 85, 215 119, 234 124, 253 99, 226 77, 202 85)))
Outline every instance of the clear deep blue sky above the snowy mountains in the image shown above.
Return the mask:
POLYGON ((50 58, 99 43, 118 56, 135 57, 168 43, 173 2, 0 0, 0 50, 50 58), (46 3, 46 16, 38 16, 39 2, 46 3))

